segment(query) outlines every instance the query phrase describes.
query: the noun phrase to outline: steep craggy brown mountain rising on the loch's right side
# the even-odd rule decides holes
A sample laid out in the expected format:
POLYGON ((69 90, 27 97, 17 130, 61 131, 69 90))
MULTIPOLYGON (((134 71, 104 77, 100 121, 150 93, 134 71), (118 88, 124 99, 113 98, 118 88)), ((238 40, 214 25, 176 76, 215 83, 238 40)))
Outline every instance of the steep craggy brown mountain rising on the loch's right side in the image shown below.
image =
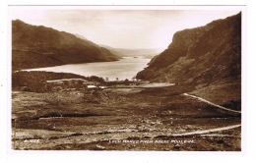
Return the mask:
POLYGON ((139 72, 137 78, 193 84, 194 93, 199 95, 217 100, 213 97, 217 93, 219 99, 228 95, 226 101, 239 101, 241 13, 204 27, 177 31, 167 49, 139 72))

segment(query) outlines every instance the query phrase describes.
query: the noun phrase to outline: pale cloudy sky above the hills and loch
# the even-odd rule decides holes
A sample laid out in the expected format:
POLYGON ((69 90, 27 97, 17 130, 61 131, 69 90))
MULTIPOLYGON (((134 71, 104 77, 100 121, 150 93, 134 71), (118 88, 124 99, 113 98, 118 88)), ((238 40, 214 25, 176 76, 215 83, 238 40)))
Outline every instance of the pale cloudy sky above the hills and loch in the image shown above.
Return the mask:
POLYGON ((12 6, 11 20, 83 35, 96 44, 116 48, 165 49, 173 34, 201 27, 238 10, 104 10, 12 6))

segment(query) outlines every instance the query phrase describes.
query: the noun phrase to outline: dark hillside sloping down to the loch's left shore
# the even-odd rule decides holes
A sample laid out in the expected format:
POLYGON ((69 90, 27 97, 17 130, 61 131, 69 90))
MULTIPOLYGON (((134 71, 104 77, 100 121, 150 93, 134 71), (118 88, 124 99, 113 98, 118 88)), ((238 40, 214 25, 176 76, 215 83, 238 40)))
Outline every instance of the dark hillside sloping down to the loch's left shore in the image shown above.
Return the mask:
POLYGON ((12 22, 14 70, 64 64, 116 61, 120 57, 96 43, 51 27, 12 22))

